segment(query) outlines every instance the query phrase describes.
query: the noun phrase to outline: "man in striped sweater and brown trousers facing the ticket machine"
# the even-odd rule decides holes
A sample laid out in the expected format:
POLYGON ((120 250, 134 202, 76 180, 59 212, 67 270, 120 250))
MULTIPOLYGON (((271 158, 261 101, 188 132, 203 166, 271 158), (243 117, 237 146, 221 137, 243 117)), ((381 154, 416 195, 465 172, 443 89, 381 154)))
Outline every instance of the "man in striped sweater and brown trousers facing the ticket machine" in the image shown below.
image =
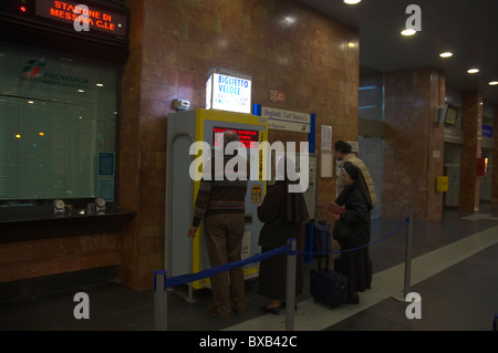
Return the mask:
MULTIPOLYGON (((235 132, 227 131, 224 133, 224 169, 215 170, 215 158, 211 159, 211 176, 200 181, 194 220, 187 233, 188 237, 195 237, 204 219, 204 233, 211 267, 241 260, 248 181, 247 178, 230 180, 225 175, 225 166, 232 157, 225 153, 230 142, 240 143, 240 139, 235 132), (218 174, 222 174, 222 178, 218 174)), ((238 314, 246 312, 247 299, 242 267, 231 269, 228 273, 215 274, 210 277, 210 282, 214 303, 209 305, 208 311, 211 315, 229 319, 231 301, 238 314)))

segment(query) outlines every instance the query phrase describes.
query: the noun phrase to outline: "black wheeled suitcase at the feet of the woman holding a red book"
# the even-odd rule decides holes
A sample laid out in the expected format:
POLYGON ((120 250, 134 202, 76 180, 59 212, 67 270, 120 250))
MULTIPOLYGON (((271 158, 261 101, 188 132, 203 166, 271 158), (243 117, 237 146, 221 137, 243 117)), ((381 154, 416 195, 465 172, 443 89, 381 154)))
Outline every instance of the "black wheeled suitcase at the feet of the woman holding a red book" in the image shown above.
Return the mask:
MULTIPOLYGON (((330 242, 326 241, 325 243, 325 251, 329 251, 330 242)), ((347 302, 347 277, 329 269, 329 255, 325 255, 325 268, 322 269, 322 257, 320 257, 319 269, 310 271, 310 293, 314 301, 331 308, 336 308, 347 302)))

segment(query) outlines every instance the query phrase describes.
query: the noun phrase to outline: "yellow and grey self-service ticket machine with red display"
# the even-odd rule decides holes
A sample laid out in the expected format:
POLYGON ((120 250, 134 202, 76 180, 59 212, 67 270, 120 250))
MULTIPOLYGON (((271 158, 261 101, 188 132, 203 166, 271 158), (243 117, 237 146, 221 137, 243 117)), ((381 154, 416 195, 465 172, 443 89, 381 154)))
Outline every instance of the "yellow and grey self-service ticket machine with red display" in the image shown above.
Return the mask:
MULTIPOLYGON (((266 117, 250 114, 215 110, 196 110, 173 113, 167 120, 167 166, 166 166, 166 229, 165 229, 165 269, 168 277, 197 273, 209 268, 203 222, 194 239, 187 237, 193 221, 195 200, 200 180, 190 175, 190 166, 197 155, 190 155, 195 142, 206 142, 210 148, 217 147, 219 134, 226 129, 235 131, 247 147, 250 156, 251 142, 268 139, 266 117)), ((257 154, 259 170, 263 169, 263 158, 257 154)), ((255 155, 256 156, 256 155, 255 155)), ((253 160, 250 160, 253 163, 253 160)), ((266 193, 263 177, 249 178, 246 194, 246 227, 242 245, 242 259, 259 253, 259 232, 262 224, 257 216, 257 207, 266 193)), ((246 278, 257 276, 259 263, 245 267, 246 278)), ((193 283, 194 289, 209 287, 209 279, 193 283)))

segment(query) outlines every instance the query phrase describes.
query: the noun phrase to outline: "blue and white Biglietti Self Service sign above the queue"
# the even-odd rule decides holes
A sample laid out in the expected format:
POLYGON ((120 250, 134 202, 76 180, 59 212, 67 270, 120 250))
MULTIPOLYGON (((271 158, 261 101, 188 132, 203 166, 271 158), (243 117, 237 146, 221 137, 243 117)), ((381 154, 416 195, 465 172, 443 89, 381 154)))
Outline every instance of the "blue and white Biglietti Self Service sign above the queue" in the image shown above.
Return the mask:
POLYGON ((307 134, 311 131, 311 114, 261 106, 261 116, 268 117, 268 128, 307 134))

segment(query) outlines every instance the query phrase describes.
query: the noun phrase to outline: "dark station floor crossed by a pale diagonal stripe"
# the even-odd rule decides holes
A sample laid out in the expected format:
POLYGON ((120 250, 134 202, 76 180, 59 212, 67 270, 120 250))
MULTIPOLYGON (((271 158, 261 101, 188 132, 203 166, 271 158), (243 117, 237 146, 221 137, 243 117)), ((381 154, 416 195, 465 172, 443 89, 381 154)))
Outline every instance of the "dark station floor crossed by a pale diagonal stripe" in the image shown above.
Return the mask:
MULTIPOLYGON (((403 219, 376 219, 372 241, 404 225, 403 219)), ((498 313, 498 206, 481 205, 478 214, 446 210, 440 222, 414 221, 411 291, 422 297, 422 319, 408 320, 407 303, 392 298, 403 290, 405 235, 402 229, 371 248, 372 289, 360 304, 330 310, 309 294, 299 298, 298 331, 491 331, 498 313)), ((304 273, 317 267, 304 266, 304 273)), ((210 291, 186 300, 186 287, 168 291, 169 331, 281 331, 280 315, 263 314, 267 300, 256 294, 257 280, 247 281, 248 311, 228 320, 210 316, 210 291)), ((154 290, 135 291, 107 282, 0 302, 0 331, 153 331, 154 290), (76 320, 74 294, 90 298, 90 319, 76 320)))

